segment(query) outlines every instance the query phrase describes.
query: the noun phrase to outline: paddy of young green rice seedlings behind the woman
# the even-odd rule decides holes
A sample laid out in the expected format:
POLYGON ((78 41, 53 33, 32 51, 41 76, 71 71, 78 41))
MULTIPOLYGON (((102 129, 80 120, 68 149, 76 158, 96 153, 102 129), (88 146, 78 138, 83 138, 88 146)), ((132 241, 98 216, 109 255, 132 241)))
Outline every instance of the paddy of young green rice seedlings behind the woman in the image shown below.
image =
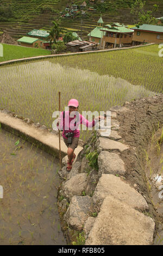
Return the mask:
MULTIPOLYGON (((136 49, 99 52, 2 67, 0 89, 4 84, 8 86, 2 90, 0 104, 52 128, 59 90, 61 109, 74 97, 80 103, 81 112, 106 111, 112 105, 152 96, 162 92, 162 58, 150 55, 147 58, 143 53, 148 49, 149 53, 155 53, 156 48, 157 45, 152 45, 141 48, 141 53, 136 49)), ((82 139, 88 135, 89 131, 81 131, 82 139)))

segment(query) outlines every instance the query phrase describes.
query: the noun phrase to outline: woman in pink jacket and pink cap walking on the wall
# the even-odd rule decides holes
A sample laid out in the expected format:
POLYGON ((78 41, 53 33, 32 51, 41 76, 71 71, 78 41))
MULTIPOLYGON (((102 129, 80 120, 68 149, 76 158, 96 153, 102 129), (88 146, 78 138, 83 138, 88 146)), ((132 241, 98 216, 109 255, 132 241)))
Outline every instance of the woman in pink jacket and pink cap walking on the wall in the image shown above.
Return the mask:
POLYGON ((62 130, 62 137, 68 148, 68 162, 67 171, 70 172, 72 169, 72 163, 76 158, 74 154, 74 149, 78 147, 80 131, 78 129, 79 125, 85 125, 86 127, 93 127, 100 119, 104 117, 96 117, 92 122, 89 122, 83 115, 78 112, 79 103, 76 99, 71 99, 68 102, 69 111, 61 112, 60 114, 60 124, 59 129, 62 130))

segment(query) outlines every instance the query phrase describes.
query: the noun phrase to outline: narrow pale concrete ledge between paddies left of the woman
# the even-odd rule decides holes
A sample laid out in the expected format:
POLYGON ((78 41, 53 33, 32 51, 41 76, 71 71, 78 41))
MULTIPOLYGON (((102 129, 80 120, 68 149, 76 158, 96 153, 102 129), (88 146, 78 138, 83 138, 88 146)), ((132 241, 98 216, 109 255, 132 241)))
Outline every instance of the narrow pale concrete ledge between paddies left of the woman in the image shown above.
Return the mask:
MULTIPOLYGON (((48 130, 40 130, 39 127, 34 127, 33 124, 24 123, 23 120, 12 117, 10 114, 0 111, 0 123, 2 129, 14 133, 15 135, 26 139, 28 142, 37 145, 47 153, 59 157, 59 137, 53 135, 48 130)), ((75 150, 76 155, 83 148, 78 146, 75 150)), ((61 157, 67 154, 67 147, 61 139, 61 157)))

